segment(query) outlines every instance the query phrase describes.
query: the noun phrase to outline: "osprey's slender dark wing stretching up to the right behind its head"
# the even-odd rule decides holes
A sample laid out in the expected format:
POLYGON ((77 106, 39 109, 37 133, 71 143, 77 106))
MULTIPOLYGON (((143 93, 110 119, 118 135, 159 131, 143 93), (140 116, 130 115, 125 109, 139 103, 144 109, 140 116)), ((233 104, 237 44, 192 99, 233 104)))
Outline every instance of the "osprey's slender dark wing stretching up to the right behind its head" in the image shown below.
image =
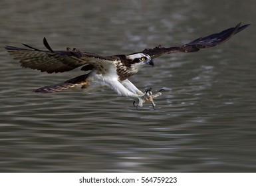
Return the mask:
POLYGON ((236 33, 239 33, 240 31, 243 31, 243 29, 245 29, 246 27, 249 27, 249 25, 250 24, 241 26, 241 23, 239 23, 235 27, 231 27, 229 29, 226 29, 225 31, 221 31, 220 33, 208 35, 207 37, 200 37, 186 45, 172 46, 168 48, 156 46, 155 48, 146 48, 142 52, 150 55, 151 58, 156 58, 163 54, 170 54, 174 52, 197 52, 201 48, 209 48, 224 43, 236 33))

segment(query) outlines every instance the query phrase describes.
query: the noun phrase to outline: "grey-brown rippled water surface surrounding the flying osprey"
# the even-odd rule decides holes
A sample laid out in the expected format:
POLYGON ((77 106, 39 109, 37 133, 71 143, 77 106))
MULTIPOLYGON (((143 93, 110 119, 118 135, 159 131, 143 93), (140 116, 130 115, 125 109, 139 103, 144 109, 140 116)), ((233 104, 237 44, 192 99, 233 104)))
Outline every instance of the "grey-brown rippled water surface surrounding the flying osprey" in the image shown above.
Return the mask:
MULTIPOLYGON (((255 22, 255 1, 1 1, 1 45, 102 55, 182 45, 255 22)), ((0 171, 256 171, 255 25, 227 43, 155 60, 130 78, 165 88, 158 110, 112 90, 35 94, 81 74, 24 69, 0 50, 0 171)))

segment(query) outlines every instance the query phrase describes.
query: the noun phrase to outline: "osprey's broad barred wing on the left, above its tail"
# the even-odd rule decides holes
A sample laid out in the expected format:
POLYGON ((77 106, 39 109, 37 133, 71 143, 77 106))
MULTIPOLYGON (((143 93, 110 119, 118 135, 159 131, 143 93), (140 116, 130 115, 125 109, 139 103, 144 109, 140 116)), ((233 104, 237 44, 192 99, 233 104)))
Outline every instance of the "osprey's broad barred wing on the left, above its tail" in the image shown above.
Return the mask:
POLYGON ((15 58, 20 60, 21 66, 41 70, 42 72, 65 72, 88 64, 88 68, 83 67, 83 70, 91 70, 92 64, 100 62, 112 62, 114 58, 104 57, 98 54, 89 52, 80 52, 76 48, 66 50, 53 50, 43 39, 43 44, 48 50, 39 50, 32 46, 23 44, 28 48, 19 48, 15 46, 5 46, 5 49, 15 58))

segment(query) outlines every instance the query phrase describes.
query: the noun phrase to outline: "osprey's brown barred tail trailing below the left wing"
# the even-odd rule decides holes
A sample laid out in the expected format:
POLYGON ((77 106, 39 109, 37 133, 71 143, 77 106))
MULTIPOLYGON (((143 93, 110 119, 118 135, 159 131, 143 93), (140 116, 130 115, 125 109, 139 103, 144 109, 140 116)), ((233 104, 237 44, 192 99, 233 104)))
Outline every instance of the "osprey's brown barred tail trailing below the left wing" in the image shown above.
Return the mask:
POLYGON ((88 86, 88 82, 86 81, 87 78, 88 78, 88 74, 84 74, 81 76, 77 76, 76 78, 66 80, 65 82, 62 82, 59 84, 43 86, 41 88, 33 90, 33 92, 53 93, 53 92, 59 92, 62 90, 66 90, 69 88, 74 88, 74 86, 80 86, 81 88, 86 88, 86 86, 88 86))

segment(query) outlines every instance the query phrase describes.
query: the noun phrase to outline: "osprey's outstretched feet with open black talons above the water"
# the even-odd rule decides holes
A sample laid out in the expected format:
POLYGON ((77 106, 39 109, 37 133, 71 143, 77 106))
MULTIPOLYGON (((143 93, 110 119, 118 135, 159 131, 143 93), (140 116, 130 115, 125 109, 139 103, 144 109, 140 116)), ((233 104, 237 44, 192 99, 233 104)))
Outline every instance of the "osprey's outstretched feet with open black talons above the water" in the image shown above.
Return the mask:
POLYGON ((154 98, 162 95, 164 89, 159 90, 156 94, 152 93, 152 88, 146 88, 144 95, 138 97, 138 105, 136 106, 136 101, 133 102, 133 105, 137 108, 142 107, 144 102, 151 102, 154 110, 156 110, 156 104, 154 103, 154 98))

